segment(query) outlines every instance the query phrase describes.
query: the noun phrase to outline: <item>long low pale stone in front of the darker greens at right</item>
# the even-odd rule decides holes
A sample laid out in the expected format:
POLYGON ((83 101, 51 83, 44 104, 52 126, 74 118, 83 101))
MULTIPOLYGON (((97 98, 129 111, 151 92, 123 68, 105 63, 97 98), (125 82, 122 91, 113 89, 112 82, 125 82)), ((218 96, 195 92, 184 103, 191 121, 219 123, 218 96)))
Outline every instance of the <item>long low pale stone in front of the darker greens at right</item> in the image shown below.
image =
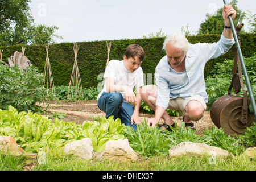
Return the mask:
POLYGON ((175 147, 170 148, 170 156, 180 156, 187 154, 196 154, 196 155, 214 155, 220 156, 229 155, 229 152, 218 147, 208 146, 204 143, 193 143, 193 142, 181 142, 175 147))

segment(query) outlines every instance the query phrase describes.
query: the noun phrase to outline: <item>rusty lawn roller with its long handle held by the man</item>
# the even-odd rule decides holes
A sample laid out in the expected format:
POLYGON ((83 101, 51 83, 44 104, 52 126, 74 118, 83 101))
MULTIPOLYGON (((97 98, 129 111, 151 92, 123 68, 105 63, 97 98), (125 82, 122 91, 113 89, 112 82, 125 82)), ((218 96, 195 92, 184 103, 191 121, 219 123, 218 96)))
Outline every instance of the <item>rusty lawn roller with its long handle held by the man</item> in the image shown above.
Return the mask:
POLYGON ((214 125, 216 125, 218 128, 222 128, 226 134, 240 135, 246 131, 246 127, 250 127, 253 125, 253 122, 256 122, 255 101, 240 49, 240 30, 243 27, 243 23, 234 28, 233 20, 230 16, 229 22, 233 31, 234 40, 236 42, 233 77, 228 89, 228 95, 218 98, 212 104, 210 109, 210 117, 212 118, 214 125), (237 65, 238 74, 236 73, 237 65), (245 85, 243 84, 242 79, 242 68, 250 98, 247 97, 247 92, 244 89, 245 85), (232 88, 234 92, 232 92, 232 88), (241 88, 243 90, 243 94, 241 94, 243 97, 237 96, 240 94, 239 92, 241 88), (236 94, 236 96, 231 95, 232 93, 236 94), (249 110, 250 104, 253 107, 253 113, 251 113, 249 110))

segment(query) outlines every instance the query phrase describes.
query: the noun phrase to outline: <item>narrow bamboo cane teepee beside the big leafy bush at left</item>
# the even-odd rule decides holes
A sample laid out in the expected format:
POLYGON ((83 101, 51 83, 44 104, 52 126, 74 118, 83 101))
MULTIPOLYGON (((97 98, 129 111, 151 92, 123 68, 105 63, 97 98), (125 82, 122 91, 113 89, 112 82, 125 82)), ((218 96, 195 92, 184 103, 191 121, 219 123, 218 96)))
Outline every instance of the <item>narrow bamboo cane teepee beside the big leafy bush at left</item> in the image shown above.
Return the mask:
POLYGON ((49 45, 46 46, 46 64, 44 64, 44 86, 46 86, 47 94, 48 94, 48 91, 52 94, 55 94, 55 88, 54 88, 53 77, 52 77, 52 69, 51 69, 51 64, 49 62, 48 52, 49 52, 49 45), (49 84, 49 88, 48 88, 48 84, 49 84))

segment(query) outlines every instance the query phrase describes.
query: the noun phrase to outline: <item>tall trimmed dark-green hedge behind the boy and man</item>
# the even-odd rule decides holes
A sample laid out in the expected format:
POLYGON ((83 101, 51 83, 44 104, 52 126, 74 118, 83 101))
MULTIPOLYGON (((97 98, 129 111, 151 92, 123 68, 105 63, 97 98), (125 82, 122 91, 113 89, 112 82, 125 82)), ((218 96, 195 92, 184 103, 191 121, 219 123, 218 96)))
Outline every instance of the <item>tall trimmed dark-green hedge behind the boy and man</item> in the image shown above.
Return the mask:
MULTIPOLYGON (((187 36, 188 41, 192 44, 198 42, 213 43, 220 39, 220 35, 198 35, 187 36)), ((109 42, 109 41, 108 41, 109 42)), ((125 49, 130 44, 139 44, 144 48, 146 53, 145 59, 141 65, 143 72, 152 74, 152 83, 154 83, 155 67, 159 60, 166 55, 162 50, 164 38, 152 39, 122 39, 111 40, 112 47, 110 49, 109 59, 122 60, 125 49)), ((241 49, 244 57, 250 57, 256 51, 256 34, 242 34, 241 35, 241 49)), ((106 41, 95 42, 80 42, 77 54, 77 64, 82 81, 83 88, 97 87, 98 75, 104 73, 107 60, 107 46, 106 41)), ((26 47, 24 55, 30 59, 31 63, 39 68, 43 73, 44 64, 46 61, 46 48, 44 45, 15 45, 9 47, 0 47, 3 49, 3 61, 6 63, 7 58, 14 54, 15 51, 22 52, 22 46, 26 47)), ((217 59, 210 60, 205 66, 205 77, 208 76, 209 71, 213 69, 213 64, 222 62, 226 59, 234 59, 235 46, 230 49, 228 53, 217 59)), ((60 43, 49 45, 49 61, 51 63, 52 75, 55 86, 68 86, 71 78, 75 55, 73 52, 73 43, 60 43)), ((145 82, 148 84, 148 82, 145 82)))

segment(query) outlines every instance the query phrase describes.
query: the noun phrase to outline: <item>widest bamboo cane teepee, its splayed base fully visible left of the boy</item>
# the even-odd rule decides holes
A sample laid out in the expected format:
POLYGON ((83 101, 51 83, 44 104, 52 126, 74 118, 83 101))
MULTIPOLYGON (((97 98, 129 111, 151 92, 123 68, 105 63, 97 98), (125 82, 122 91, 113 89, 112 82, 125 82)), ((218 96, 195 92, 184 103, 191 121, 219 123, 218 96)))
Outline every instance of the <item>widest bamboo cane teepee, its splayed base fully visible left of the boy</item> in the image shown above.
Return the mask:
POLYGON ((71 79, 69 81, 67 99, 75 97, 75 100, 76 100, 77 97, 83 98, 83 95, 82 95, 82 82, 79 74, 79 68, 77 65, 77 52, 79 50, 79 46, 77 46, 76 43, 73 43, 73 49, 75 53, 75 63, 73 65, 73 71, 72 71, 71 79))

